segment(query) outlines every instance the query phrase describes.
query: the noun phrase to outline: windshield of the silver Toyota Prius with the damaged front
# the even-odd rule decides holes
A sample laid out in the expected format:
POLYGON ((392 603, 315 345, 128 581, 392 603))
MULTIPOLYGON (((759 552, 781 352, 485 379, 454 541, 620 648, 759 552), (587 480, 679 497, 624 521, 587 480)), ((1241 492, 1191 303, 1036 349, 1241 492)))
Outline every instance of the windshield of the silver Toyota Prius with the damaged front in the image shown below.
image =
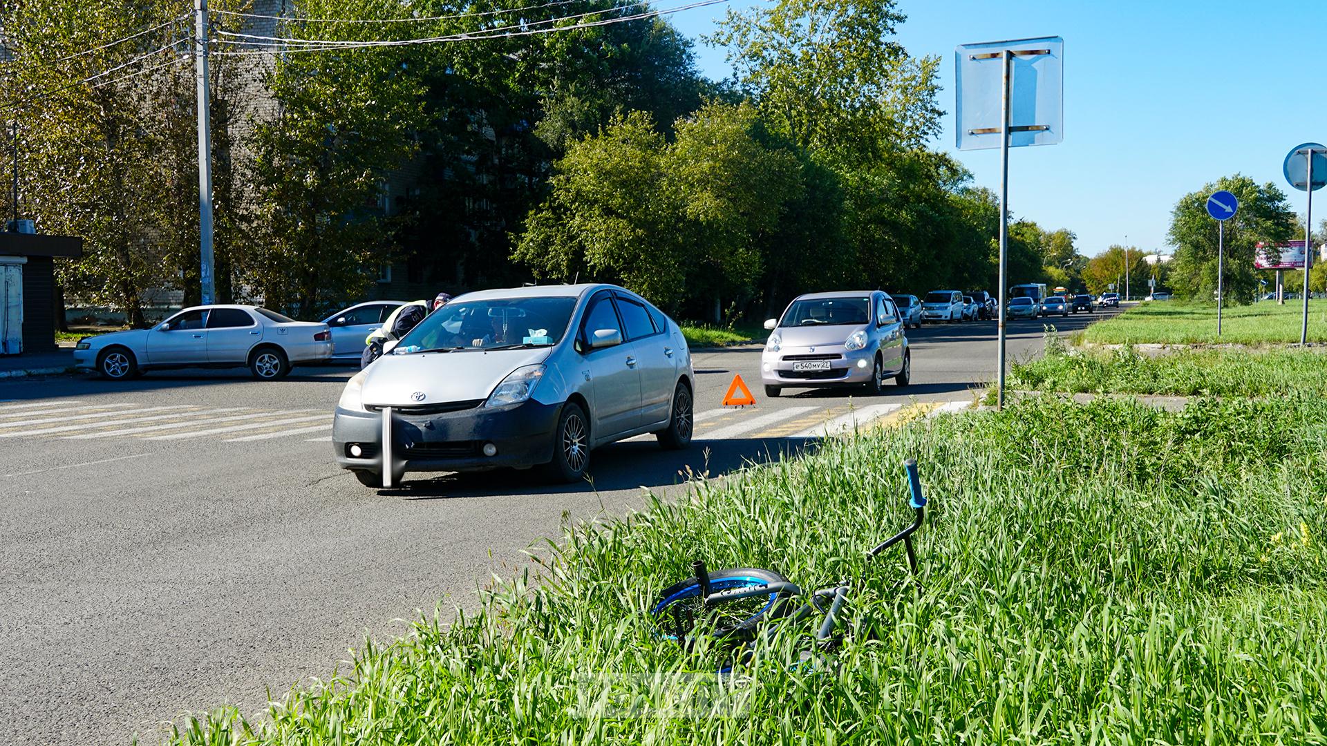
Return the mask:
POLYGON ((575 309, 576 299, 568 296, 453 301, 419 321, 393 352, 555 345, 575 309))

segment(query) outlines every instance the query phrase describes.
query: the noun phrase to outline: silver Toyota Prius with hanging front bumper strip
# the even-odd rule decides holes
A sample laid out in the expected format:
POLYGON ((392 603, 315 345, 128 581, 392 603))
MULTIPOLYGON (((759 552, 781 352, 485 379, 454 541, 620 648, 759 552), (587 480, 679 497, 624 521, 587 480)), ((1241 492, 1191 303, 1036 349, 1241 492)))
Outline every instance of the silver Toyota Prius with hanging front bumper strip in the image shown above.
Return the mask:
POLYGON ((407 471, 543 466, 584 477, 594 447, 653 433, 691 442, 694 377, 682 331, 616 285, 467 293, 346 382, 336 462, 366 486, 407 471))

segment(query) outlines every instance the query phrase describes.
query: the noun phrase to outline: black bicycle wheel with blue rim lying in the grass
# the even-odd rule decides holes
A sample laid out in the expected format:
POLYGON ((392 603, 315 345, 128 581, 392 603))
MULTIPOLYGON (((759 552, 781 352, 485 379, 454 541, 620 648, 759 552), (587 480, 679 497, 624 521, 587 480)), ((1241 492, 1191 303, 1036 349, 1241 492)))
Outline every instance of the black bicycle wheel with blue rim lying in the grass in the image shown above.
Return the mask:
MULTIPOLYGON (((719 591, 760 588, 774 583, 788 584, 788 580, 778 572, 750 567, 717 569, 709 576, 711 596, 719 591)), ((650 613, 662 628, 664 637, 669 640, 693 636, 698 625, 705 625, 706 631, 697 632, 698 634, 747 641, 762 623, 792 613, 794 604, 788 600, 795 595, 796 592, 784 587, 770 593, 714 603, 710 608, 705 608, 699 581, 689 577, 665 588, 650 613)))

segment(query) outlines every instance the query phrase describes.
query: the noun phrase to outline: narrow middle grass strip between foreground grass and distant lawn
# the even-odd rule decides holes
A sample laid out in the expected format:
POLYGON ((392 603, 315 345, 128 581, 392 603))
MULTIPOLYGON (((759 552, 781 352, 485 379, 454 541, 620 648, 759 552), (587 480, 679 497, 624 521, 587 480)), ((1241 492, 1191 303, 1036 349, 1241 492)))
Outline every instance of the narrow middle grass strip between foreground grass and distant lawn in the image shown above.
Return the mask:
POLYGON ((1327 354, 1310 349, 1194 349, 1162 356, 1133 348, 1067 350, 1015 362, 1010 385, 1044 392, 1279 397, 1327 396, 1327 354))

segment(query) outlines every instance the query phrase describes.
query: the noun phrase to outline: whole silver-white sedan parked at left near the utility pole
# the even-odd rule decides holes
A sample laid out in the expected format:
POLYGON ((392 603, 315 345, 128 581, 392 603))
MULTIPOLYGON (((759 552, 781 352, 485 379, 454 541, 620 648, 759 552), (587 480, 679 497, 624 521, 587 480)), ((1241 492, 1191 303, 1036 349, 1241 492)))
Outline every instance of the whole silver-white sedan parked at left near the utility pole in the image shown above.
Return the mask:
POLYGON ((121 381, 143 370, 247 366, 275 381, 291 366, 332 357, 332 333, 320 321, 296 321, 256 305, 186 308, 150 329, 84 337, 74 366, 121 381))

